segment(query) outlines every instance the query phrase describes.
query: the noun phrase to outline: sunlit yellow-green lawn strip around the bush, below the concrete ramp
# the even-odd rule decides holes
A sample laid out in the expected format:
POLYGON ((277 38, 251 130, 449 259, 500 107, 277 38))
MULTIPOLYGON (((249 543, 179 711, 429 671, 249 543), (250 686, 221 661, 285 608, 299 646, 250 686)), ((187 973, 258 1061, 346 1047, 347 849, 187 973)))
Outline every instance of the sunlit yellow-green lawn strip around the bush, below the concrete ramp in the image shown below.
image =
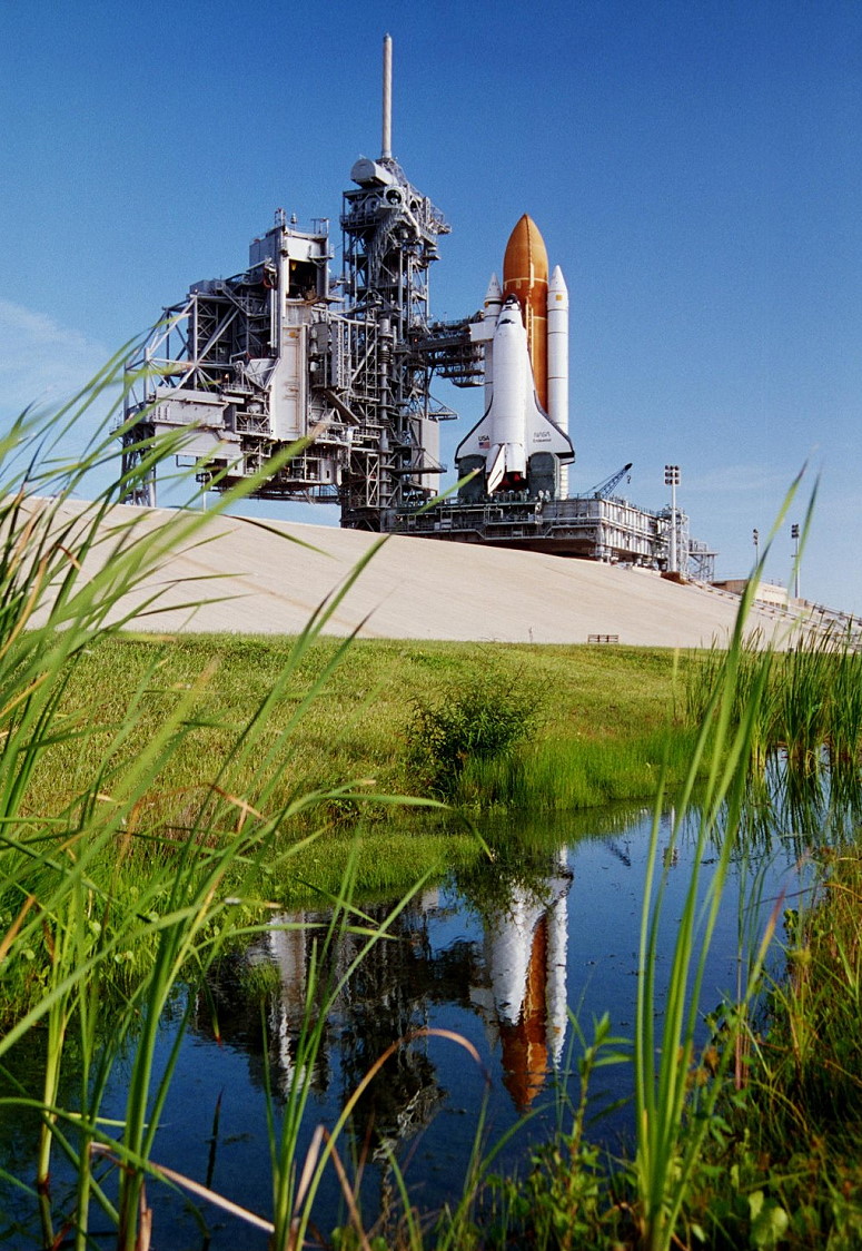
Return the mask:
MULTIPOLYGON (((673 779, 685 772, 691 732, 680 723, 677 692, 687 658, 636 648, 354 641, 304 711, 301 732, 285 742, 285 727, 341 647, 316 641, 267 709, 259 742, 281 741, 281 798, 334 779, 359 782, 360 792, 433 792, 415 763, 416 708, 468 691, 477 668, 493 673, 513 706, 530 711, 532 728, 510 752, 466 759, 451 792, 456 804, 571 809, 650 797, 666 763, 673 779)), ((294 641, 285 638, 114 634, 100 641, 76 661, 61 703, 70 717, 87 708, 89 733, 51 749, 27 792, 30 811, 54 811, 96 762, 122 769, 141 751, 149 727, 194 692, 186 743, 161 774, 159 796, 147 801, 182 837, 201 778, 231 752, 239 727, 280 682, 292 649, 294 641), (132 698, 140 699, 141 716, 112 748, 132 698)), ((232 784, 254 802, 252 777, 254 761, 232 784)), ((332 823, 355 819, 357 802, 332 803, 332 823)), ((375 811, 380 818, 389 814, 380 806, 375 811)))

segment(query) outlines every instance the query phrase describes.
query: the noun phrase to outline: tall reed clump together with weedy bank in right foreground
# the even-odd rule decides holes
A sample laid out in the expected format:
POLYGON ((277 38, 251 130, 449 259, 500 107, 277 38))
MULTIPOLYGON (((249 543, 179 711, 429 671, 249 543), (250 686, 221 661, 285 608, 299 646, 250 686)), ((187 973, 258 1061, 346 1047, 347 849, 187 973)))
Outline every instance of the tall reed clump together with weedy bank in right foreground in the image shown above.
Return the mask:
MULTIPOLYGON (((785 512, 791 498, 792 492, 785 512)), ((526 1187, 498 1186, 503 1216, 492 1237, 475 1231, 465 1246, 723 1251, 860 1245, 858 857, 855 876, 845 868, 840 879, 842 857, 826 902, 807 922, 795 919, 790 976, 773 987, 766 1037, 755 1032, 751 1018, 781 901, 762 933, 741 922, 736 996, 723 1005, 710 1045, 698 1050, 696 1043, 706 958, 730 866, 745 857, 752 798, 763 798, 762 778, 752 774, 752 763, 760 766, 768 743, 765 727, 781 707, 776 689, 791 702, 788 693, 805 696, 811 706, 795 711, 800 751, 788 749, 786 757, 788 773, 808 779, 812 752, 822 744, 817 736, 823 733, 811 727, 828 702, 835 668, 816 647, 788 658, 777 673, 770 653, 745 648, 742 624, 750 599, 751 590, 728 652, 706 661, 713 668, 671 834, 677 838, 686 814, 696 812, 695 856, 670 952, 660 951, 657 938, 667 878, 658 848, 661 803, 655 808, 636 988, 635 1155, 630 1161, 600 1160, 583 1142, 578 1110, 572 1128, 533 1160, 526 1187), (707 854, 715 864, 705 883, 707 854), (668 967, 668 990, 661 998, 660 961, 668 967), (825 1146, 830 1127, 841 1127, 837 1152, 825 1146), (831 1161, 831 1171, 821 1166, 823 1158, 831 1161), (526 1205, 520 1200, 525 1188, 526 1205)), ((776 722, 786 726, 787 714, 776 722)), ((858 769, 855 788, 858 793, 858 769)), ((811 788, 807 796, 812 798, 811 788)), ((788 811, 800 811, 800 792, 796 798, 788 811)), ((758 891, 757 876, 747 876, 741 917, 747 909, 757 912, 758 891)), ((583 1065, 595 1063, 603 1047, 610 1048, 606 1062, 618 1061, 618 1040, 607 1035, 608 1023, 598 1022, 593 1045, 583 1048, 583 1065)), ((582 1090, 587 1076, 581 1073, 582 1090)))

